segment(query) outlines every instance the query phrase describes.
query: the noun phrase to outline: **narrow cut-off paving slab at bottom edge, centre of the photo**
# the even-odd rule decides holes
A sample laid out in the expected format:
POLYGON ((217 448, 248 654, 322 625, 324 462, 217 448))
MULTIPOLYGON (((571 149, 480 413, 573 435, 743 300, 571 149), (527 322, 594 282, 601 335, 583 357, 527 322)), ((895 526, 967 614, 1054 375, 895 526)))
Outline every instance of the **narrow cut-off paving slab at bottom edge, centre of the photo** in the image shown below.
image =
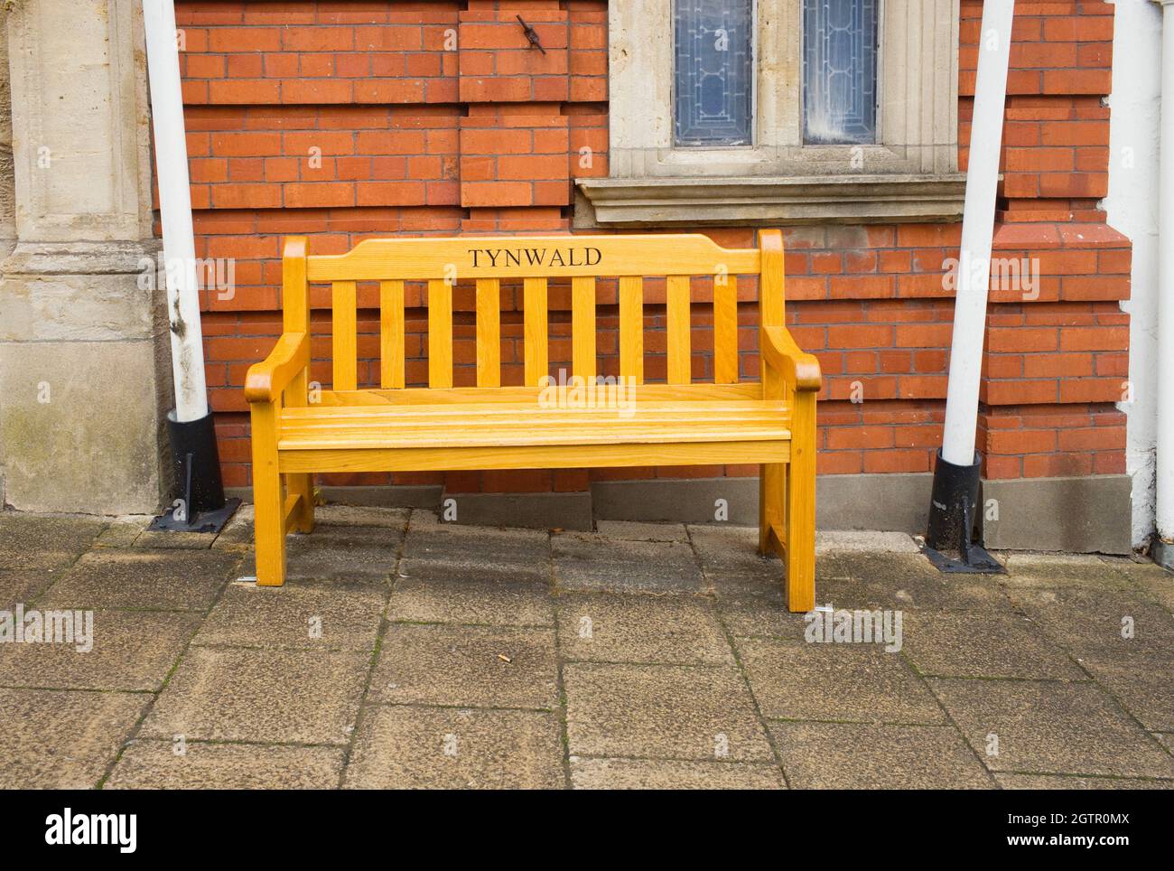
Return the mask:
POLYGON ((777 765, 701 759, 571 759, 573 789, 787 789, 777 765))

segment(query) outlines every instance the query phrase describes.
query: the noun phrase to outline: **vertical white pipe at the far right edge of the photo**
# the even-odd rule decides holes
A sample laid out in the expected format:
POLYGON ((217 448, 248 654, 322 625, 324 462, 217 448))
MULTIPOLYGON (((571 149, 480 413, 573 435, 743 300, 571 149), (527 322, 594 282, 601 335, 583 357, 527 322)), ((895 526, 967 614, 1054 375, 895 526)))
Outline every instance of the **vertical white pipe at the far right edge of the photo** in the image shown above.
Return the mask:
POLYGON ((1162 108, 1158 212, 1158 432, 1155 524, 1174 542, 1174 0, 1162 5, 1162 108))

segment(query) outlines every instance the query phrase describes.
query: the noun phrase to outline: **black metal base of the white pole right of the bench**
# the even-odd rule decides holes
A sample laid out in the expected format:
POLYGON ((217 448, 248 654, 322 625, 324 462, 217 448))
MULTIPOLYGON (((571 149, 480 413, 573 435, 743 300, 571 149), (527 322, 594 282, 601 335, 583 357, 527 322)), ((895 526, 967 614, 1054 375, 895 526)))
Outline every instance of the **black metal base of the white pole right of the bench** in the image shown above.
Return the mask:
POLYGON ((930 495, 930 522, 922 553, 943 573, 1005 574, 991 554, 974 543, 978 482, 981 459, 974 454, 969 466, 957 466, 938 448, 930 495))

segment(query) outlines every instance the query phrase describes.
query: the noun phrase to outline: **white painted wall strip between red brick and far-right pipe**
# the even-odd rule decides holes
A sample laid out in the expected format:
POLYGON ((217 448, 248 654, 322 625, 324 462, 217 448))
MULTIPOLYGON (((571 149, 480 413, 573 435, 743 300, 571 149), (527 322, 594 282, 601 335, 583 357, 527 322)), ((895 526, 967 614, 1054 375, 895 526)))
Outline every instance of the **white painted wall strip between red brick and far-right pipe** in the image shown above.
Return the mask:
MULTIPOLYGON (((1133 242, 1126 472, 1133 478, 1133 543, 1154 531, 1158 379, 1158 156, 1161 100, 1161 7, 1114 0, 1113 94, 1109 97, 1108 223, 1133 242)), ((1174 147, 1174 146, 1172 146, 1174 147)))

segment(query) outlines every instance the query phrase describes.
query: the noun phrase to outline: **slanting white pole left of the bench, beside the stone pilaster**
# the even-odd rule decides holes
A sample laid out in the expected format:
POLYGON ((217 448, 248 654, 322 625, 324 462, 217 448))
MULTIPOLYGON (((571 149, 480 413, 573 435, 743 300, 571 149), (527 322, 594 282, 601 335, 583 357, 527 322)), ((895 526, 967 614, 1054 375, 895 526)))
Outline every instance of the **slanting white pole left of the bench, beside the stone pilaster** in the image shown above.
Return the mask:
POLYGON ((171 323, 171 374, 180 423, 208 414, 196 241, 188 188, 188 143, 180 89, 180 52, 173 0, 143 0, 147 26, 147 74, 155 130, 155 173, 163 220, 167 311, 171 323))

